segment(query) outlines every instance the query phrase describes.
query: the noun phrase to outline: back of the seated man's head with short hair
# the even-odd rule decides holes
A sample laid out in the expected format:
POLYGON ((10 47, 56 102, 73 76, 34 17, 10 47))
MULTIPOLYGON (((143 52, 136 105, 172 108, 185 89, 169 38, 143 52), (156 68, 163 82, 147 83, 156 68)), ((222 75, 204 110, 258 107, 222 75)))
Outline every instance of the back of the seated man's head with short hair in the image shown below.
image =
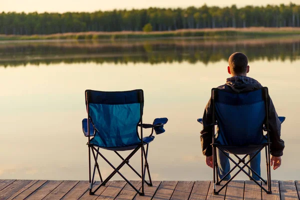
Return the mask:
POLYGON ((248 58, 241 52, 232 53, 228 59, 230 71, 239 75, 247 71, 248 58))

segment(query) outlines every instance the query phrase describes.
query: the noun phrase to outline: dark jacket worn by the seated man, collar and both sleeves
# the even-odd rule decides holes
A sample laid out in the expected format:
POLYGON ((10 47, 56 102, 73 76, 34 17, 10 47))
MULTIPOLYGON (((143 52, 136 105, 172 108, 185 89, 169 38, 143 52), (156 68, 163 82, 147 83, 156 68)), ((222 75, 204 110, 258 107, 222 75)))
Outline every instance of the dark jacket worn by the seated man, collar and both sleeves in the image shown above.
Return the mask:
MULTIPOLYGON (((253 91, 261 88, 261 84, 253 78, 246 76, 233 76, 227 78, 224 85, 218 86, 218 89, 223 89, 229 92, 253 91)), ((268 121, 270 129, 270 152, 273 156, 281 156, 283 154, 284 141, 280 139, 281 124, 278 119, 275 107, 271 98, 268 98, 268 121)), ((203 129, 201 130, 201 145, 202 152, 205 156, 212 155, 212 101, 209 99, 203 114, 203 129)))

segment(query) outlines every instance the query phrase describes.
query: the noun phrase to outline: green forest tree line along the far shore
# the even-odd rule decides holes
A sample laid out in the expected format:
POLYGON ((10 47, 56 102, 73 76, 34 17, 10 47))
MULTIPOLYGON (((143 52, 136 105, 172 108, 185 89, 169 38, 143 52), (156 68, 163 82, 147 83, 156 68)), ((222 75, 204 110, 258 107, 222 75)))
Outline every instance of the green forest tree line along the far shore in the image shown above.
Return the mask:
POLYGON ((0 13, 0 34, 53 34, 85 31, 154 31, 183 28, 299 27, 300 5, 190 6, 65 13, 0 13), (150 25, 150 26, 149 26, 150 25))

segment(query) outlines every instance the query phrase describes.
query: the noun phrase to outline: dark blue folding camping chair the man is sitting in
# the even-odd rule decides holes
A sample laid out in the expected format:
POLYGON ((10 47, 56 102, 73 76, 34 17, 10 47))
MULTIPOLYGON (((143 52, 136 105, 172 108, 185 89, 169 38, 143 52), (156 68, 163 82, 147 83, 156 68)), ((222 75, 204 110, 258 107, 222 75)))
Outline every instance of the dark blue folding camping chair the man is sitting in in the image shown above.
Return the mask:
MULTIPOLYGON (((212 102, 212 156, 213 156, 213 192, 218 194, 240 171, 243 171, 251 180, 259 185, 266 193, 271 193, 271 172, 270 172, 270 138, 268 129, 268 89, 262 87, 255 91, 231 93, 217 88, 211 90, 212 102), (265 126, 264 126, 265 124, 265 126), (217 133, 215 134, 215 125, 217 133), (263 134, 263 130, 266 134, 263 134), (267 180, 264 180, 248 164, 265 148, 267 180), (220 180, 217 175, 216 149, 228 157, 234 166, 220 180), (233 154, 238 159, 234 161, 230 157, 233 154), (252 154, 248 161, 245 158, 252 154), (244 155, 241 157, 240 155, 244 155), (240 166, 242 164, 242 166, 240 166), (228 175, 236 168, 238 170, 228 179, 228 175), (244 168, 252 172, 250 175, 244 168), (267 189, 262 186, 253 174, 267 184, 267 189), (216 185, 224 179, 228 179, 218 190, 216 185)), ((279 117, 280 122, 285 117, 279 117)), ((202 123, 199 118, 198 122, 202 123)))

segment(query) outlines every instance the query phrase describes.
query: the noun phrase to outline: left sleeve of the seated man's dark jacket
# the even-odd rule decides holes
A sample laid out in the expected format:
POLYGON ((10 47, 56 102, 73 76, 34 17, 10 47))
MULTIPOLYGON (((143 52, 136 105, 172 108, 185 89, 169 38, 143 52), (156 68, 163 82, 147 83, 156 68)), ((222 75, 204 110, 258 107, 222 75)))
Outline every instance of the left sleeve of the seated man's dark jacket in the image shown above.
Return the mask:
POLYGON ((200 140, 202 146, 202 153, 205 156, 212 155, 212 100, 209 99, 204 114, 202 117, 203 129, 201 130, 200 140))

